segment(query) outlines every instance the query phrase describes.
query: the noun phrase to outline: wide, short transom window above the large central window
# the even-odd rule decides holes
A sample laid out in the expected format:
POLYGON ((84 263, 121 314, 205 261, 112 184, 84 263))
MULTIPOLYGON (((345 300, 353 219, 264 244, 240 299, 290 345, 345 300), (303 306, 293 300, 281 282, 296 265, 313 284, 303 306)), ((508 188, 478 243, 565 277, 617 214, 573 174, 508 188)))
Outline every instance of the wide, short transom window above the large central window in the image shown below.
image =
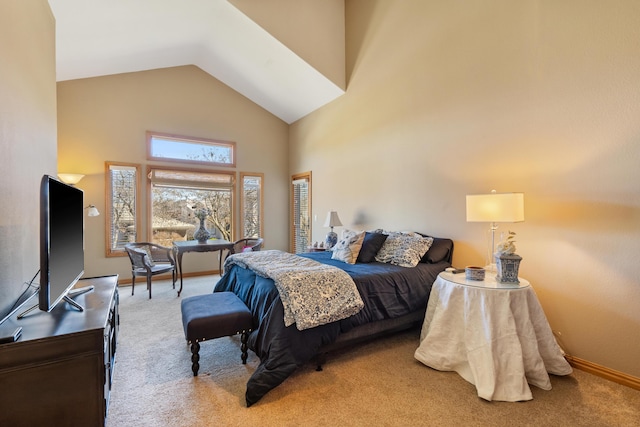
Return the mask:
POLYGON ((147 132, 149 160, 235 167, 235 151, 236 144, 231 141, 147 132))

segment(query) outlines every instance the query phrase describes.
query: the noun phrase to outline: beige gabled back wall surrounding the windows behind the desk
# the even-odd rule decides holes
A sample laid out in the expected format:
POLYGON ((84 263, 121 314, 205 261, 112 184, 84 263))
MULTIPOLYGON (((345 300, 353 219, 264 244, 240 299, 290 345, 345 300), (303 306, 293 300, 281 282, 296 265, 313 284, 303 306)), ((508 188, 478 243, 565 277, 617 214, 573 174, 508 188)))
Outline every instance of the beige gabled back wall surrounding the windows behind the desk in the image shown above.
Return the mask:
MULTIPOLYGON (((288 245, 287 129, 286 123, 194 66, 58 83, 58 170, 86 175, 78 187, 87 203, 106 212, 105 161, 163 164, 146 160, 147 130, 235 141, 235 170, 264 173, 265 246, 277 249, 288 245)), ((147 235, 143 178, 139 241, 147 235)), ((104 215, 87 219, 85 246, 87 275, 118 273, 130 279, 128 258, 105 257, 104 215)), ((184 270, 217 270, 213 259, 211 253, 185 255, 184 270)))

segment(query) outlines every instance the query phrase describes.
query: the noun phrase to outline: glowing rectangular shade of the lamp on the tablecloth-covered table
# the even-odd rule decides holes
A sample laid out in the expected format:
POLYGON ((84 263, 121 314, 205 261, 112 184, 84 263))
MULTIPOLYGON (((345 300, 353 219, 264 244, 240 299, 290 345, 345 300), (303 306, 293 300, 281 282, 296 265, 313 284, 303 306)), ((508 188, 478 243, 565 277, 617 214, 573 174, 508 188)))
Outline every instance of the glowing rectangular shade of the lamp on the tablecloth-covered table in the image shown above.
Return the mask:
POLYGON ((467 196, 467 222, 524 221, 524 193, 467 196))

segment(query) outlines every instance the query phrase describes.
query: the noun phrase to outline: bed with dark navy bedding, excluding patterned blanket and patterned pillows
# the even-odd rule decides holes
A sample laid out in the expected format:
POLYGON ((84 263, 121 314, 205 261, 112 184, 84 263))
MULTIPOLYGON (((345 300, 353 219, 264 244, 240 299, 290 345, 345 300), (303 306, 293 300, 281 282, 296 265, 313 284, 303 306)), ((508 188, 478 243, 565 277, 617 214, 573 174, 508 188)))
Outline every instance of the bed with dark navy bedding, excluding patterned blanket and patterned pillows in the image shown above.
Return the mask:
MULTIPOLYGON (((247 382, 247 406, 315 357, 322 361, 328 351, 421 324, 431 286, 438 274, 451 266, 453 254, 450 239, 432 239, 421 262, 411 268, 375 259, 349 264, 332 259, 331 251, 299 254, 346 272, 364 303, 354 315, 304 330, 296 325, 285 326, 285 308, 274 280, 234 265, 230 262, 234 256, 229 257, 214 292, 235 293, 253 315, 254 329, 248 344, 260 364, 247 382)), ((363 251, 365 247, 362 246, 363 251)))

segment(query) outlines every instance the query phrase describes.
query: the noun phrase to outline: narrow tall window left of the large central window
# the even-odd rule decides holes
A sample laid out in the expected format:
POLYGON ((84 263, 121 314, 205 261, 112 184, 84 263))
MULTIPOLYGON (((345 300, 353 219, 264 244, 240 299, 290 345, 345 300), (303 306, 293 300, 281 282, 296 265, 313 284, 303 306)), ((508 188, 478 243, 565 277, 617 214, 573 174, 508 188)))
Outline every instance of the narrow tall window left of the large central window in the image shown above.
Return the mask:
POLYGON ((140 165, 105 163, 107 185, 106 256, 125 256, 124 245, 138 237, 140 165))

